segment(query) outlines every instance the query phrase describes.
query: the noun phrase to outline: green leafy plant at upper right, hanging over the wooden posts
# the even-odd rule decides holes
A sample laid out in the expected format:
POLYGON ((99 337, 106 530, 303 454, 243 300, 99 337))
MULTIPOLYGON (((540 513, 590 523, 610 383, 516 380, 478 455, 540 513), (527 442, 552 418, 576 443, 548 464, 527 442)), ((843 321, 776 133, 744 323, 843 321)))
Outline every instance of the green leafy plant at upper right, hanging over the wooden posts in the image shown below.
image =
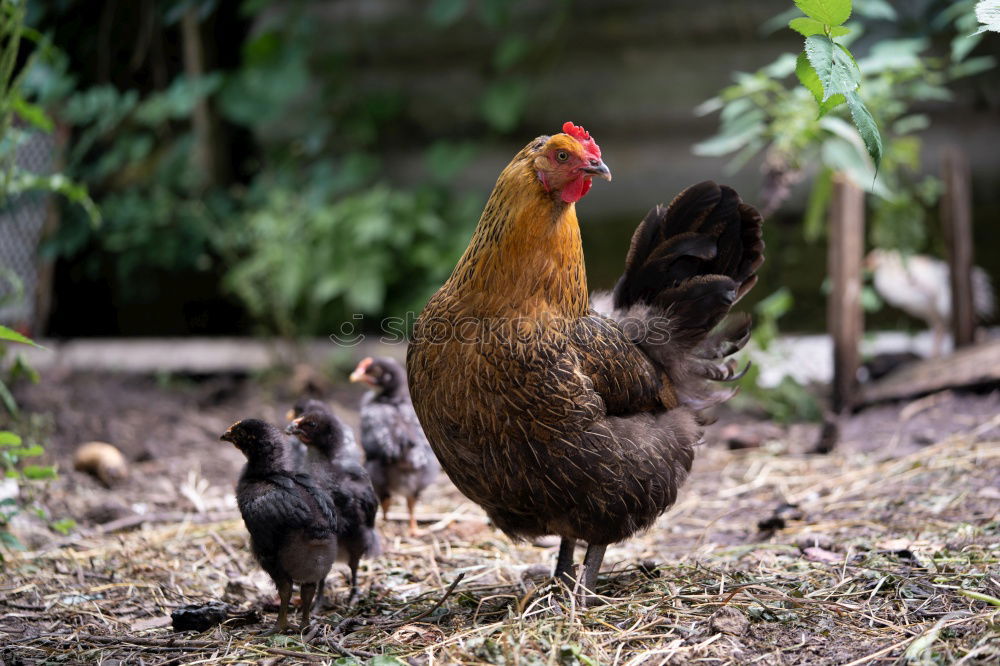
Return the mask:
MULTIPOLYGON (((825 18, 844 15, 844 6, 835 2, 799 4, 810 11, 826 12, 825 18)), ((936 203, 941 186, 937 178, 920 175, 918 134, 927 128, 928 119, 912 109, 926 102, 950 100, 948 85, 952 81, 995 65, 991 57, 967 57, 970 49, 964 41, 963 22, 972 16, 972 3, 958 4, 962 11, 949 7, 933 21, 937 30, 955 24, 958 34, 952 42, 951 58, 928 55, 930 40, 911 37, 882 39, 855 64, 843 45, 826 36, 809 35, 806 51, 797 58, 786 54, 752 74, 737 73, 734 85, 699 107, 699 113, 720 111, 721 129, 697 144, 695 153, 733 155, 729 168, 736 170, 763 152, 768 168, 765 192, 770 197, 764 207, 768 210, 778 208, 788 196, 789 189, 780 186, 782 182, 797 182, 813 165, 820 165, 803 218, 809 241, 825 233, 832 173, 846 173, 874 195, 872 241, 880 247, 921 249, 926 210, 936 203), (964 59, 956 59, 956 54, 964 59), (788 81, 793 72, 802 87, 788 81), (855 75, 860 76, 860 86, 849 90, 855 75), (819 103, 818 112, 810 98, 819 103), (870 109, 878 112, 881 132, 870 109), (877 135, 885 150, 876 178, 870 148, 877 135)), ((857 16, 845 26, 851 31, 847 39, 862 34, 866 22, 895 18, 890 6, 872 0, 859 0, 853 9, 857 16)), ((813 20, 822 22, 816 17, 813 20)), ((830 25, 824 23, 824 29, 830 25)), ((809 32, 815 25, 799 22, 793 28, 809 32)))

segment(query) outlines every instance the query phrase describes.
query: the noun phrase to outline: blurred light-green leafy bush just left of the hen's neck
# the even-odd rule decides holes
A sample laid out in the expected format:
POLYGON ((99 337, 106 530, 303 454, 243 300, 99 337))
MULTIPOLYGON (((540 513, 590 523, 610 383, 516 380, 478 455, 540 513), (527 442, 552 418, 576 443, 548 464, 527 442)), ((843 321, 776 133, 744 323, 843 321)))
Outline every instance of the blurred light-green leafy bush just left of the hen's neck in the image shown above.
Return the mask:
POLYGON ((240 258, 226 284, 284 335, 329 335, 354 313, 402 315, 446 277, 470 212, 433 189, 375 185, 321 204, 270 189, 227 241, 240 258))

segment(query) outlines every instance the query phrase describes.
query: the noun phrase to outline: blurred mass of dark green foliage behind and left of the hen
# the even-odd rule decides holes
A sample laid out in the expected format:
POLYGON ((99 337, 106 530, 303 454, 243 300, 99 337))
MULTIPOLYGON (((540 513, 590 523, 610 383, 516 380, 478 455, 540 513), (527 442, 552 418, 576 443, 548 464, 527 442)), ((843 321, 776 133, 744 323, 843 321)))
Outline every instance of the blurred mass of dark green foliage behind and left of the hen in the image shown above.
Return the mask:
MULTIPOLYGON (((81 3, 48 7, 46 24, 55 30, 81 3)), ((455 108, 460 125, 486 128, 485 141, 518 130, 540 51, 569 12, 568 2, 551 3, 528 21, 512 5, 434 0, 425 24, 414 26, 443 41, 473 30, 492 44, 482 86, 455 108)), ((188 39, 170 26, 190 7, 157 4, 150 11, 163 33, 139 43, 188 39)), ((211 17, 216 27, 230 11, 197 7, 199 20, 211 17)), ((450 265, 475 224, 478 211, 454 181, 479 144, 414 132, 426 123, 408 115, 406 86, 383 85, 358 66, 384 57, 379 40, 317 21, 315 3, 256 0, 240 12, 249 33, 216 47, 238 48, 239 62, 212 69, 207 61, 201 77, 168 62, 130 74, 128 87, 97 82, 77 64, 93 52, 72 43, 62 44, 69 57, 31 70, 38 99, 73 128, 69 173, 94 192, 105 217, 97 230, 69 212, 46 251, 107 279, 120 303, 152 301, 157 285, 194 273, 235 294, 267 332, 328 334, 355 312, 418 308, 442 277, 435 262, 450 265), (133 85, 143 74, 154 84, 133 85), (204 173, 192 159, 205 148, 193 122, 199 105, 225 130, 219 136, 240 139, 208 142, 222 159, 240 155, 228 173, 204 173), (388 155, 407 150, 418 158, 410 161, 416 174, 387 168, 398 166, 388 155)))

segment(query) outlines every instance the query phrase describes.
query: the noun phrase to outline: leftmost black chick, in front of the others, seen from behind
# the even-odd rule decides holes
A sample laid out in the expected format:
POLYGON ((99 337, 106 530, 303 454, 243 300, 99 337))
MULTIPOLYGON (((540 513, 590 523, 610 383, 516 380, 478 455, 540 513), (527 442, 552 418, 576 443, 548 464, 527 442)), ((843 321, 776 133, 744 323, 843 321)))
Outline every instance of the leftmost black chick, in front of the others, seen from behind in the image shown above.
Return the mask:
POLYGON ((337 509, 307 474, 296 472, 281 431, 246 419, 220 437, 247 457, 236 484, 236 502, 250 532, 261 568, 278 588, 278 623, 268 634, 288 627, 292 584, 299 583, 302 625, 309 624, 316 587, 337 558, 337 509))

